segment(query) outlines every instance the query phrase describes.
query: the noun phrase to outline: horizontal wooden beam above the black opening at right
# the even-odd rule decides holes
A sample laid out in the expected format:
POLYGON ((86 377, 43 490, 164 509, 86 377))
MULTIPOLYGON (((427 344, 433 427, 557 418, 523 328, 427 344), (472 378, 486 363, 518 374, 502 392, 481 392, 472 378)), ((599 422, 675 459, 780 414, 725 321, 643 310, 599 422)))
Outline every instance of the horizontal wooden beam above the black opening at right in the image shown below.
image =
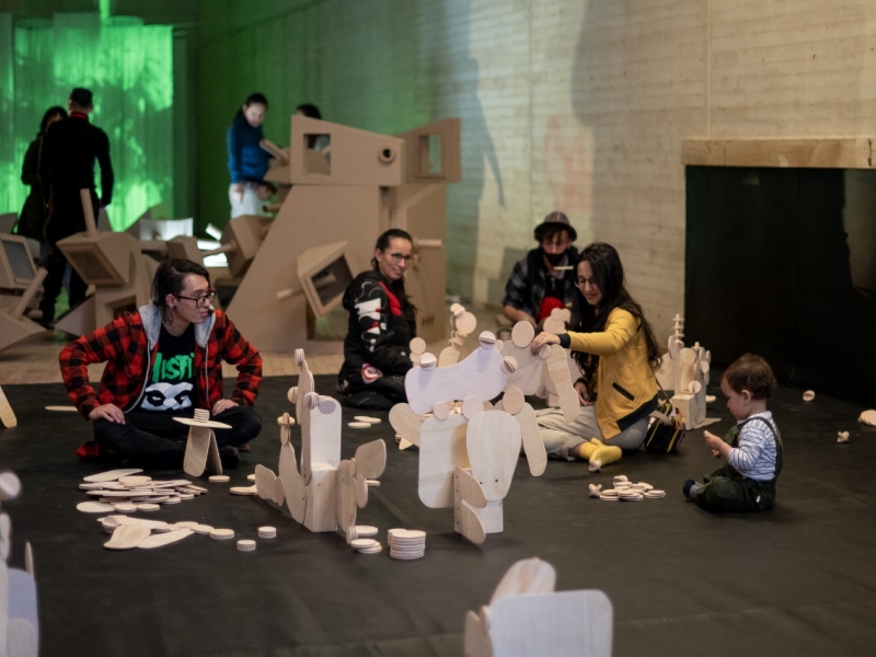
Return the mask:
POLYGON ((682 164, 874 169, 873 137, 817 139, 685 139, 682 164))

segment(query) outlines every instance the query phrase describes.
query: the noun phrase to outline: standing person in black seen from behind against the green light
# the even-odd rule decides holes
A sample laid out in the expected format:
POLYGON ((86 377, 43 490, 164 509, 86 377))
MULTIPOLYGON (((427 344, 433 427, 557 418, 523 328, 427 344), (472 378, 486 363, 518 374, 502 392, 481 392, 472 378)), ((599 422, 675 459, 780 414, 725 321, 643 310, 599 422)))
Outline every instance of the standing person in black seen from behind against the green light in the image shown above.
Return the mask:
MULTIPOLYGON (((42 324, 48 327, 55 320, 55 300, 61 289, 67 258, 57 246, 58 240, 85 230, 80 189, 91 189, 94 220, 97 211, 113 199, 113 164, 110 161, 110 139, 102 129, 89 123, 94 110, 88 89, 70 92, 67 103, 70 116, 46 132, 39 155, 39 180, 48 207, 45 226, 48 254, 44 266, 48 276, 43 284, 42 324), (94 160, 101 164, 101 197, 94 189, 94 160)), ((70 307, 85 297, 88 286, 73 270, 70 276, 70 307)))

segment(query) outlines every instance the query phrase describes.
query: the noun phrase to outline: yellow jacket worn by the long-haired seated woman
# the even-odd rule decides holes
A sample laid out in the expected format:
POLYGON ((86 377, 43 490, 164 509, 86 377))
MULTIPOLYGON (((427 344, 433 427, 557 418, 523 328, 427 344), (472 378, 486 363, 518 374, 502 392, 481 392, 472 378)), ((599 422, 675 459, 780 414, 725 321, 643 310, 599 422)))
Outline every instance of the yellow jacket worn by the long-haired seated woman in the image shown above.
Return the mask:
POLYGON ((648 364, 648 345, 638 321, 626 310, 609 313, 599 333, 569 332, 573 351, 599 356, 596 370, 596 422, 606 439, 621 433, 618 420, 626 417, 657 394, 657 381, 648 364))

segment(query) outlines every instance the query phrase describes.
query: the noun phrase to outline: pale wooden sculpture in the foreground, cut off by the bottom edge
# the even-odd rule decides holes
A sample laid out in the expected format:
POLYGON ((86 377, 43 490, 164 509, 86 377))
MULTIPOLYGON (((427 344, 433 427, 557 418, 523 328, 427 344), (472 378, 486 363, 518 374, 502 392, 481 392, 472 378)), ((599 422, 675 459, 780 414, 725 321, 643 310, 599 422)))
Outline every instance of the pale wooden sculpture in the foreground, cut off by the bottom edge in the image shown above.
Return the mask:
POLYGON ((554 591, 537 557, 514 564, 488 606, 465 615, 465 657, 610 657, 613 610, 598 590, 554 591))

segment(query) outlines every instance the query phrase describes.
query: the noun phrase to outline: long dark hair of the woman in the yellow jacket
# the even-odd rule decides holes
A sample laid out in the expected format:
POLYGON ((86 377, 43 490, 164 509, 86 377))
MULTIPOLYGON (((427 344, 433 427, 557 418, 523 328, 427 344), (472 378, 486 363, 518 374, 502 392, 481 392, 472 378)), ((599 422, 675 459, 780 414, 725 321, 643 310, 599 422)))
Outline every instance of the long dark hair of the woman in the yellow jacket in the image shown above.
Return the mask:
MULTIPOLYGON (((652 369, 656 370, 660 367, 657 339, 654 337, 654 331, 652 331, 648 320, 642 313, 642 307, 626 291, 623 280, 623 265, 618 251, 614 246, 604 242, 588 244, 575 263, 576 278, 578 276, 578 264, 584 262, 590 265, 593 283, 596 283, 599 291, 602 292, 602 301, 599 304, 599 310, 597 310, 587 302, 580 288, 577 288, 572 301, 572 331, 580 333, 604 331, 609 313, 615 308, 622 308, 638 321, 638 330, 644 333, 645 344, 648 348, 648 364, 652 369)), ((573 351, 573 356, 584 372, 587 388, 591 388, 596 368, 599 365, 599 356, 585 354, 584 351, 573 351)))

